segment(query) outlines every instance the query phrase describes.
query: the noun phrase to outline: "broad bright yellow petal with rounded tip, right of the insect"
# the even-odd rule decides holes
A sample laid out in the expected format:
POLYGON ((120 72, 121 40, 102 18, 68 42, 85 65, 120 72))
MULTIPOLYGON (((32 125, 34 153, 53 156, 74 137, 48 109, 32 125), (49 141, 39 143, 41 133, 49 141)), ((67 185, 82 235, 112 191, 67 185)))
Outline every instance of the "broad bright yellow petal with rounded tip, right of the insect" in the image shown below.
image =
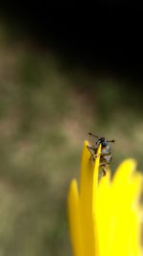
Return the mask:
POLYGON ((110 255, 139 255, 138 244, 138 213, 133 208, 140 178, 133 180, 136 163, 133 159, 123 161, 112 179, 110 207, 111 228, 107 250, 110 255), (112 244, 111 244, 112 241, 112 244), (119 244, 119 246, 118 246, 119 244), (116 249, 118 247, 118 249, 116 249))

